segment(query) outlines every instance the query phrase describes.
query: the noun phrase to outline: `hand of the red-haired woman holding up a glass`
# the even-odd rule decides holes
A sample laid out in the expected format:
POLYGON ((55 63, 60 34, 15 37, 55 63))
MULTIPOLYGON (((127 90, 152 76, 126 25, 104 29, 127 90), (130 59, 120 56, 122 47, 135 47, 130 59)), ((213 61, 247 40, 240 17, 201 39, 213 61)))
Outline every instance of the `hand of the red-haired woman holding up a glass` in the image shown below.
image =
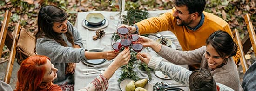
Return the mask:
POLYGON ((115 66, 117 66, 119 68, 122 65, 128 64, 130 58, 131 58, 130 49, 129 48, 125 48, 122 52, 120 52, 116 56, 116 58, 114 59, 112 64, 114 64, 115 66))

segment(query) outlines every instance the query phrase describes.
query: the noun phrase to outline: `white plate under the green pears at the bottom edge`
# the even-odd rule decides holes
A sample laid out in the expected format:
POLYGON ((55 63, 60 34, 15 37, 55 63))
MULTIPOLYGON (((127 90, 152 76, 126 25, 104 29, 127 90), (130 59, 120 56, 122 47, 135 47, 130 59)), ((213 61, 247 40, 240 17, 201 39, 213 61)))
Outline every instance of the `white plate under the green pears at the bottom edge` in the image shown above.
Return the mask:
MULTIPOLYGON (((119 88, 121 89, 121 91, 125 91, 125 87, 126 85, 131 82, 132 79, 124 79, 119 83, 119 88)), ((153 86, 151 84, 146 84, 144 89, 148 90, 148 91, 153 91, 153 86)))

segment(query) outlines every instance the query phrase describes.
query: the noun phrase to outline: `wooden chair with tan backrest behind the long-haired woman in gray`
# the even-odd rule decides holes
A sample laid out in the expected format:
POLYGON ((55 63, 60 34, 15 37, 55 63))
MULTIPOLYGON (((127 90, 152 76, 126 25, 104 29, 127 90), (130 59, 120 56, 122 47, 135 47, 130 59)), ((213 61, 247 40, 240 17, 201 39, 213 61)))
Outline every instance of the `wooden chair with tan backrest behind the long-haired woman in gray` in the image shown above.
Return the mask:
POLYGON ((20 57, 22 56, 23 60, 26 57, 36 55, 34 53, 35 37, 31 34, 31 32, 27 32, 24 28, 20 26, 20 21, 17 22, 13 35, 11 34, 11 32, 7 31, 10 15, 11 12, 7 10, 0 31, 0 55, 2 53, 4 45, 6 45, 7 48, 11 51, 4 78, 4 82, 6 82, 7 84, 10 83, 15 57, 19 60, 21 59, 20 57), (17 49, 19 50, 16 52, 17 49), (19 57, 17 56, 16 53, 19 53, 19 57))

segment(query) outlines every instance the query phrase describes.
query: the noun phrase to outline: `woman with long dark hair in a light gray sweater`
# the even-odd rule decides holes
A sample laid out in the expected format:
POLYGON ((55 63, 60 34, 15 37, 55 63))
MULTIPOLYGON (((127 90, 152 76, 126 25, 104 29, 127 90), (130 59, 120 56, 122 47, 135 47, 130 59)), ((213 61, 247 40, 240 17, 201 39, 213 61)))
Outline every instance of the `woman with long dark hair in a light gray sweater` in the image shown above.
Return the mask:
POLYGON ((54 67, 59 69, 54 84, 62 84, 63 87, 74 84, 75 63, 89 59, 111 60, 118 54, 115 51, 89 52, 83 48, 79 32, 67 21, 67 13, 59 7, 42 7, 37 23, 36 52, 49 57, 54 67))

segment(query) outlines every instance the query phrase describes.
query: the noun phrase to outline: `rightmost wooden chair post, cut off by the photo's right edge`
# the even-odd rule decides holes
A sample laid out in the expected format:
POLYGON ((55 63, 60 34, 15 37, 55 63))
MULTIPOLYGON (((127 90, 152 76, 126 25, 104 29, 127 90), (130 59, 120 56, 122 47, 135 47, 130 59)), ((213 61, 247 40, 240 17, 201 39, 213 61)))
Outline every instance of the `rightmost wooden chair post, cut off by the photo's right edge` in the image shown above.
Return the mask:
POLYGON ((254 50, 254 55, 256 56, 256 34, 255 34, 255 30, 253 28, 253 25, 252 25, 252 22, 251 22, 251 19, 250 19, 250 16, 248 13, 245 14, 244 20, 245 20, 245 23, 247 26, 247 31, 248 31, 248 35, 249 35, 249 38, 251 41, 251 45, 254 50))

